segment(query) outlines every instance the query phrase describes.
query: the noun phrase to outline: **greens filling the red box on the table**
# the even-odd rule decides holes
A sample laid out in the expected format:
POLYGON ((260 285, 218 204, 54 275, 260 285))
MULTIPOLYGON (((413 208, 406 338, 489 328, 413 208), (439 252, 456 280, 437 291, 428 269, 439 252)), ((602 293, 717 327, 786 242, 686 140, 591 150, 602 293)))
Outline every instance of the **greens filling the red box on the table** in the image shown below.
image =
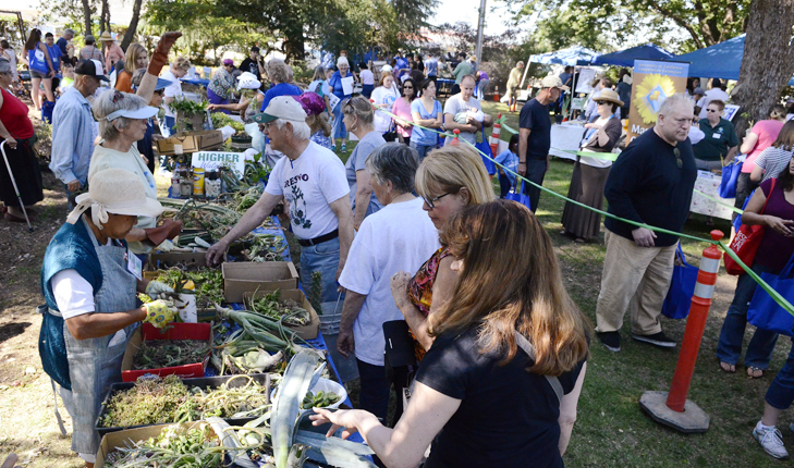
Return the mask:
POLYGON ((149 340, 141 344, 133 358, 133 369, 161 369, 201 362, 208 353, 209 345, 201 340, 149 340))

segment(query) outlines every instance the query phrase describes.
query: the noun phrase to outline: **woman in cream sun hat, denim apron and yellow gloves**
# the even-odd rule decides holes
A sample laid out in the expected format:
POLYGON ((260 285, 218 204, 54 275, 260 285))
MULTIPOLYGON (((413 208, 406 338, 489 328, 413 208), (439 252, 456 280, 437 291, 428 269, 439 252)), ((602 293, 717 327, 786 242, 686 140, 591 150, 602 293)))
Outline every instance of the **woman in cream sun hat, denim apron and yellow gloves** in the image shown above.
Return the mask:
POLYGON ((161 328, 173 319, 172 303, 138 306, 136 293, 156 297, 173 290, 143 279, 141 262, 124 241, 137 217, 162 212, 137 175, 121 169, 98 172, 76 202, 44 258, 47 305, 39 355, 72 417, 72 449, 91 468, 99 448, 94 424, 110 384, 121 381, 121 360, 135 328, 141 321, 161 328))

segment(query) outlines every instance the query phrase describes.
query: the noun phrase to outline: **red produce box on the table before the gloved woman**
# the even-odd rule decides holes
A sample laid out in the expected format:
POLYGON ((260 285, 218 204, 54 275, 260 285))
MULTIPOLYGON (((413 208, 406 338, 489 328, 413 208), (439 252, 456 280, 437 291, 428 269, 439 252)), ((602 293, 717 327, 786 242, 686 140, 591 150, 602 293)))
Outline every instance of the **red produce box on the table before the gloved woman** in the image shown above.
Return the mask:
POLYGON ((132 370, 135 354, 141 348, 141 343, 145 340, 206 340, 209 346, 212 346, 212 325, 209 323, 181 323, 172 322, 168 329, 161 333, 150 323, 144 323, 135 330, 130 344, 124 352, 124 358, 121 361, 121 380, 124 382, 135 382, 138 377, 147 373, 155 375, 170 375, 175 373, 180 377, 204 377, 204 369, 209 362, 209 355, 201 362, 188 364, 185 366, 166 367, 161 369, 132 370))

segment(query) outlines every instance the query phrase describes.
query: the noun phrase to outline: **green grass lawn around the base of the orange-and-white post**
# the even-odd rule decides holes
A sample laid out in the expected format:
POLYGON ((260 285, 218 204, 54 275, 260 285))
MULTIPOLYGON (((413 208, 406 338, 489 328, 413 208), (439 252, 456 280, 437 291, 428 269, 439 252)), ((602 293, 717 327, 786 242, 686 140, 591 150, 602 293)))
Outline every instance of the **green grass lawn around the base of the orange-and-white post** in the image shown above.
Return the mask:
MULTIPOLYGON (((482 108, 485 112, 494 115, 503 112, 508 115, 508 125, 518 127, 517 113, 506 113, 506 106, 484 101, 482 108)), ((501 138, 509 140, 510 133, 503 130, 501 138)), ((351 149, 349 145, 349 150, 351 149)), ((346 160, 346 157, 342 157, 346 160)), ((571 161, 552 160, 545 187, 558 194, 567 194, 572 170, 571 161)), ((576 244, 560 236, 563 206, 562 199, 543 193, 537 215, 554 243, 569 293, 595 323, 596 300, 606 253, 603 236, 588 244, 576 244)), ((717 229, 730 233, 728 221, 716 222, 717 229)), ((705 217, 699 214, 693 214, 684 226, 685 233, 699 237, 707 237, 709 231, 710 227, 705 225, 705 217)), ((687 260, 694 264, 698 263, 706 247, 706 243, 683 243, 687 260)), ((781 466, 781 461, 762 452, 753 439, 752 431, 764 411, 764 394, 774 373, 783 365, 791 344, 787 337, 780 341, 770 369, 762 379, 748 379, 743 366, 738 366, 735 374, 723 373, 718 369, 714 349, 725 311, 733 298, 735 283, 735 276, 729 276, 723 269, 689 390, 689 398, 711 417, 708 432, 682 434, 658 424, 640 410, 638 401, 645 391, 669 390, 679 347, 660 350, 633 342, 626 323, 622 330, 622 352, 612 354, 598 340, 593 342, 587 378, 579 399, 578 420, 564 457, 567 467, 781 466)), ((665 333, 679 343, 683 337, 684 327, 685 321, 662 318, 665 333)), ((745 346, 749 337, 750 334, 747 333, 745 346)), ((356 393, 353 392, 354 395, 356 393)), ((790 449, 794 449, 794 434, 787 426, 793 419, 786 411, 779 424, 790 449)))

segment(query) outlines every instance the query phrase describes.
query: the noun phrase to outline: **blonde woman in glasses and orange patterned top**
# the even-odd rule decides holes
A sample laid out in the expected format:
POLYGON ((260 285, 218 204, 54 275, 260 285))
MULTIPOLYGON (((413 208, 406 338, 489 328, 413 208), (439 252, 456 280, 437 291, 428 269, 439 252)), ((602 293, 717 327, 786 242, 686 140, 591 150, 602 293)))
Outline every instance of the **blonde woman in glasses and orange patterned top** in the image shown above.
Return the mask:
MULTIPOLYGON (((441 237, 448 220, 463 208, 497 198, 482 159, 467 146, 430 151, 416 172, 416 193, 425 200, 423 208, 441 237)), ((418 359, 433 340, 428 334, 428 317, 451 297, 457 283, 457 273, 450 268, 451 251, 441 244, 416 274, 403 271, 392 279, 391 292, 417 341, 418 359)))

